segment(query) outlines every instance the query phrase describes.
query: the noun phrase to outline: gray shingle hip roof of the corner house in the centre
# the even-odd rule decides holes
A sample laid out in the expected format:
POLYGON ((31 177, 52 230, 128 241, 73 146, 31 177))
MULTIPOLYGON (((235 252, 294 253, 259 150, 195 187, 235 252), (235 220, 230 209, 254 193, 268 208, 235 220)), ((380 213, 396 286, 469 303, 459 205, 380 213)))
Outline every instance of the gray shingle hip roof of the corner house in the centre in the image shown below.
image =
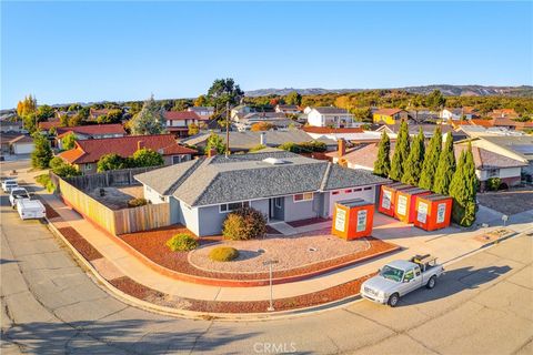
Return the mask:
POLYGON ((302 192, 384 183, 369 172, 333 165, 285 151, 217 155, 158 169, 135 179, 188 205, 210 205, 302 192), (285 161, 273 165, 266 158, 285 161), (182 166, 181 166, 182 165, 182 166))

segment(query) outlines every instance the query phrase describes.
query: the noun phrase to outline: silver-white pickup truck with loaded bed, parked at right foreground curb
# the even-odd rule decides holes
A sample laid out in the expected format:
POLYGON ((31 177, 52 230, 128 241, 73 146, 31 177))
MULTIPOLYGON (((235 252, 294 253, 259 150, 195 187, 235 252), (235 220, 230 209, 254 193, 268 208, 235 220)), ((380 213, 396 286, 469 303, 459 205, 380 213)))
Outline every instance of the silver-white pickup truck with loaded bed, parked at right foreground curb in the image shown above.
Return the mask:
POLYGON ((425 286, 435 287, 436 278, 444 273, 444 267, 431 255, 415 255, 409 261, 396 260, 379 274, 363 282, 361 296, 381 304, 395 307, 400 297, 425 286))

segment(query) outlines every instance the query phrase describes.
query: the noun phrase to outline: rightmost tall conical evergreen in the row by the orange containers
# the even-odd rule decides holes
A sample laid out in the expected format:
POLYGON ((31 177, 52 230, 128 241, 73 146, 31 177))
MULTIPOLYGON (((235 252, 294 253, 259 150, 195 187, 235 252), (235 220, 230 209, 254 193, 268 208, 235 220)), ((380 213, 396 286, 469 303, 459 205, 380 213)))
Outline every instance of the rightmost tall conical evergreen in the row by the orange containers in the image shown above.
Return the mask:
POLYGON ((450 196, 453 197, 452 219, 462 226, 471 226, 475 221, 477 176, 475 175, 472 146, 461 152, 457 169, 450 184, 450 196))

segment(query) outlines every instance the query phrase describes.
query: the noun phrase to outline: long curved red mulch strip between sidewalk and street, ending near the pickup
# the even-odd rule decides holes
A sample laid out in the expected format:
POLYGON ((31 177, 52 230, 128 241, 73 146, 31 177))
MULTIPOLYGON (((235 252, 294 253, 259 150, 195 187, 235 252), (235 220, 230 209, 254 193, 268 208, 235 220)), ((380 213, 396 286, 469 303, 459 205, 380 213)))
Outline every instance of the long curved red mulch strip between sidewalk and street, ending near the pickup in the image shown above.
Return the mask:
MULTIPOLYGON (((371 276, 373 275, 368 275, 342 285, 305 295, 274 300, 274 308, 275 311, 298 310, 353 296, 359 294, 361 284, 371 276)), ((167 294, 141 285, 128 276, 112 280, 110 283, 120 291, 135 298, 164 306, 172 306, 172 302, 167 301, 169 298, 167 294)), ((210 313, 263 313, 266 312, 266 308, 269 307, 269 301, 222 302, 191 298, 180 298, 179 301, 181 302, 174 301, 174 303, 182 305, 182 307, 180 307, 182 310, 210 313)))

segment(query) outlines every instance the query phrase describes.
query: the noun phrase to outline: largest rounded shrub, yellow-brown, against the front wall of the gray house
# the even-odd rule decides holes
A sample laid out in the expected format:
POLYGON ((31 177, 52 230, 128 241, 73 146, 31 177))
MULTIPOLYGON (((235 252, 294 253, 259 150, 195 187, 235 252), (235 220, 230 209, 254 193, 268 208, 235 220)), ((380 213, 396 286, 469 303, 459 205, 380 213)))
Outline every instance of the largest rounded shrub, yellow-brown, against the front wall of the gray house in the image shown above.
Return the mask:
POLYGON ((222 235, 233 241, 248 241, 261 237, 266 233, 266 219, 250 207, 243 207, 228 214, 224 221, 222 235))

